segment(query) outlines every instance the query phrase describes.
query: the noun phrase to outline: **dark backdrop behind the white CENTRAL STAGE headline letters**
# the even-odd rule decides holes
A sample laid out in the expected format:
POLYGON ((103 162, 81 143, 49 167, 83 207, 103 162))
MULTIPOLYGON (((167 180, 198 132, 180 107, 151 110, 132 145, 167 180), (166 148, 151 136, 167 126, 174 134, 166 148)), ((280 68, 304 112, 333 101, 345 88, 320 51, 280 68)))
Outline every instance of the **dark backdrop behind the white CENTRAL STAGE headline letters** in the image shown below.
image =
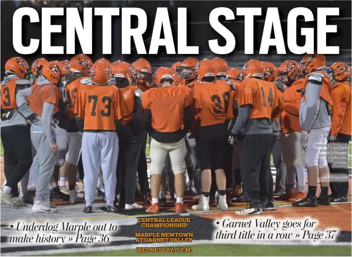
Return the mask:
MULTIPOLYGON (((42 7, 77 7, 80 12, 83 7, 137 7, 142 8, 147 13, 148 26, 147 31, 143 34, 144 43, 147 52, 149 52, 150 39, 152 35, 154 18, 157 7, 168 7, 170 22, 173 30, 173 39, 177 52, 177 8, 187 8, 187 45, 199 46, 199 54, 193 55, 198 59, 213 58, 215 55, 210 51, 208 40, 219 39, 220 45, 225 45, 225 39, 215 32, 209 24, 209 14, 216 7, 227 7, 233 10, 235 20, 226 21, 224 16, 220 16, 220 21, 234 34, 236 38, 236 46, 232 53, 223 55, 229 62, 230 67, 240 67, 247 60, 255 58, 261 61, 271 61, 276 65, 280 65, 283 61, 293 59, 300 61, 302 56, 291 54, 286 44, 286 55, 279 55, 276 52, 276 47, 269 48, 269 54, 259 55, 259 48, 263 32, 263 26, 266 15, 266 8, 278 7, 281 18, 282 32, 284 40, 287 37, 287 14, 295 7, 309 8, 314 17, 318 7, 339 7, 339 16, 328 16, 327 24, 336 24, 337 33, 327 35, 328 44, 340 47, 339 55, 328 55, 328 64, 336 61, 343 61, 350 65, 351 63, 351 1, 1 1, 1 67, 4 67, 5 62, 13 56, 19 54, 14 50, 12 45, 12 17, 16 9, 20 7, 33 7, 38 11, 41 20, 42 7), (254 22, 254 50, 255 54, 244 54, 245 48, 245 30, 244 16, 236 15, 236 7, 261 7, 262 15, 255 16, 254 22)), ((66 10, 65 10, 66 14, 66 10)), ((138 58, 146 58, 152 64, 152 67, 171 66, 173 63, 180 61, 189 55, 167 54, 166 48, 160 46, 158 54, 137 54, 134 47, 134 41, 131 40, 131 54, 121 54, 121 14, 113 16, 112 19, 112 54, 102 54, 102 16, 94 16, 93 12, 93 54, 90 55, 95 61, 99 58, 106 58, 113 61, 123 60, 133 62, 138 58)), ((81 14, 82 15, 82 14, 81 14)), ((81 16, 83 18, 83 15, 81 16)), ((136 16, 132 19, 132 24, 137 27, 138 21, 136 16)), ((301 27, 315 28, 315 46, 316 37, 316 19, 312 22, 304 22, 303 16, 299 16, 297 21, 297 44, 304 45, 305 37, 299 36, 301 27)), ((24 16, 22 19, 22 41, 23 45, 29 45, 30 39, 41 39, 41 23, 30 23, 29 16, 24 16)), ((51 45, 63 45, 66 52, 66 17, 53 16, 51 24, 61 24, 62 33, 51 34, 51 45)), ((274 36, 272 32, 272 37, 274 36)), ((78 38, 76 36, 76 53, 82 53, 78 38)), ((39 44, 37 52, 30 55, 22 55, 24 59, 31 64, 35 59, 42 57, 49 61, 52 60, 70 60, 72 55, 45 55, 41 54, 41 44, 39 44)), ((3 74, 2 74, 3 77, 3 74)))

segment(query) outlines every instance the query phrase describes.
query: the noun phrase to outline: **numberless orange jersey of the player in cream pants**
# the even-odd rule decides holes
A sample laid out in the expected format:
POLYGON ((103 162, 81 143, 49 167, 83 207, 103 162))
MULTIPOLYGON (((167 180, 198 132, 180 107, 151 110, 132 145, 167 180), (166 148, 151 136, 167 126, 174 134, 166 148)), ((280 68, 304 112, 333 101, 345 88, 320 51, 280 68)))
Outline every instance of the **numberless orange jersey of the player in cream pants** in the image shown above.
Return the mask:
POLYGON ((159 132, 176 132, 183 128, 184 108, 192 104, 192 91, 187 87, 161 87, 142 95, 144 109, 150 109, 152 127, 159 132))

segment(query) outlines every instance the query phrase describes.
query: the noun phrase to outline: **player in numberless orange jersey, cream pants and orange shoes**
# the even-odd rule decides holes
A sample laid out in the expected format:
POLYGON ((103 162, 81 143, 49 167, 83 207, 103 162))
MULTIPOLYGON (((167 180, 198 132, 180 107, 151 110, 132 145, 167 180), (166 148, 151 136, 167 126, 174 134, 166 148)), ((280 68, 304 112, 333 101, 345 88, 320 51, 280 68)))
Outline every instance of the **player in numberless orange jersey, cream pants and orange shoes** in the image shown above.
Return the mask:
POLYGON ((156 87, 142 95, 144 125, 153 137, 150 144, 152 205, 147 213, 159 213, 159 188, 166 156, 170 155, 175 175, 176 214, 187 212, 183 205, 185 134, 192 125, 192 92, 176 87, 178 75, 171 68, 160 68, 155 74, 156 87), (174 113, 170 116, 170 113, 174 113))

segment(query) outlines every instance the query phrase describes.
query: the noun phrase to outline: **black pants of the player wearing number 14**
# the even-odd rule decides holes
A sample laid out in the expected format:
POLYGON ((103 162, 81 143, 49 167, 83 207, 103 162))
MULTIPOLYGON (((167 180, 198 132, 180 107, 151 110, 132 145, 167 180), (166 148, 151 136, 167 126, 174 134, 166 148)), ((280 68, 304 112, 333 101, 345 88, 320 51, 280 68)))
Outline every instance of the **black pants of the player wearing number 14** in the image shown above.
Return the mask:
POLYGON ((241 178, 250 208, 273 199, 273 176, 270 170, 273 134, 246 135, 241 148, 241 178))

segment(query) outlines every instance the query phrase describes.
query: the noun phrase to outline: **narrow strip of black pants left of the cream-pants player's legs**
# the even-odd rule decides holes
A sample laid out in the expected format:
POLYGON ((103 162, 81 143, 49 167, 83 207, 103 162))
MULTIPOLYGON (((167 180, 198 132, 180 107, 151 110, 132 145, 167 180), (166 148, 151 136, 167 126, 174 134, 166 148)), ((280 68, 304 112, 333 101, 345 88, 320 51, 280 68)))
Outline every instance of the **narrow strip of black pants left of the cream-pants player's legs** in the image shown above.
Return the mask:
POLYGON ((142 133, 142 144, 140 155, 138 159, 138 181, 141 187, 141 191, 143 194, 147 194, 150 192, 149 183, 148 183, 148 172, 147 172, 147 157, 146 157, 146 147, 147 147, 147 134, 144 136, 142 133), (144 138, 143 138, 144 137, 144 138))

